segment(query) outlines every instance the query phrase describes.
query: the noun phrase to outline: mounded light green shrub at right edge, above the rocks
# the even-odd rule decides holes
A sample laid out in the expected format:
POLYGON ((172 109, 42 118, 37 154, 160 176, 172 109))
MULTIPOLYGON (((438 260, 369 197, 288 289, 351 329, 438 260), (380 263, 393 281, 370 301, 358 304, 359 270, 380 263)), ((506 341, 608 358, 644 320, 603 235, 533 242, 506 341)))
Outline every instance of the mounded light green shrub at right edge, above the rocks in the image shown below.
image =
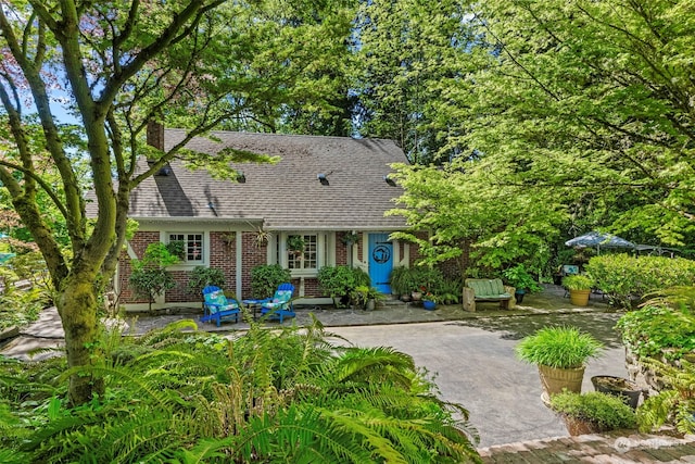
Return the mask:
POLYGON ((688 310, 647 305, 623 314, 616 328, 640 359, 679 360, 695 350, 695 316, 688 310))

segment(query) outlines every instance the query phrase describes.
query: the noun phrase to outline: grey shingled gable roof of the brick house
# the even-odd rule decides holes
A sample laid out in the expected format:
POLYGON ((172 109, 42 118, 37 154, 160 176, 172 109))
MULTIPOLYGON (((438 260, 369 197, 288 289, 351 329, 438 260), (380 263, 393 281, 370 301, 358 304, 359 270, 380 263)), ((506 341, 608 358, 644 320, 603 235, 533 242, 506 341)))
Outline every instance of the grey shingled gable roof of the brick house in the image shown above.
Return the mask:
MULTIPOLYGON (((165 149, 186 136, 165 130, 165 149)), ((215 154, 224 148, 278 155, 277 164, 244 163, 245 183, 218 180, 204 170, 188 171, 173 162, 166 176, 144 180, 130 199, 136 220, 262 221, 267 230, 332 229, 395 230, 402 217, 384 217, 402 193, 384 176, 391 163, 406 163, 391 140, 214 131, 187 148, 215 154), (317 175, 325 174, 329 185, 317 175), (210 205, 212 204, 213 208, 210 205)), ((144 161, 142 161, 144 163, 144 161)))

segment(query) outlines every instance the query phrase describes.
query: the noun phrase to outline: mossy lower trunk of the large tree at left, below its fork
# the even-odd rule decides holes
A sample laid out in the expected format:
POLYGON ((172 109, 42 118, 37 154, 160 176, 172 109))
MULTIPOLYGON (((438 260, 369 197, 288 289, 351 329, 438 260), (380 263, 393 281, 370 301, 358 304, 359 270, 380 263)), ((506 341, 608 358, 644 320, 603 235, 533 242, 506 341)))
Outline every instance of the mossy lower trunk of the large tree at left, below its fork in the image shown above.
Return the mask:
MULTIPOLYGON (((55 305, 65 330, 67 366, 89 367, 100 356, 97 341, 97 275, 83 273, 71 275, 59 290, 55 305)), ((83 404, 92 399, 93 393, 103 393, 103 379, 92 373, 76 372, 70 377, 68 399, 71 404, 83 404)))

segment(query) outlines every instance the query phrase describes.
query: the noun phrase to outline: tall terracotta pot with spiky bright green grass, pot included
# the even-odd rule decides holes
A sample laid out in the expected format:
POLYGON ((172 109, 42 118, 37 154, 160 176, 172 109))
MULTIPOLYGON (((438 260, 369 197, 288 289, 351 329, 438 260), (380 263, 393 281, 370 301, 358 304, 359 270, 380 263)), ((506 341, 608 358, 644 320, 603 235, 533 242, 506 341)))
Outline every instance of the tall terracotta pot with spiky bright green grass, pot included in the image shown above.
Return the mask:
POLYGON ((539 367, 546 396, 568 389, 580 392, 586 361, 597 358, 604 346, 576 327, 543 327, 521 339, 517 356, 539 367))

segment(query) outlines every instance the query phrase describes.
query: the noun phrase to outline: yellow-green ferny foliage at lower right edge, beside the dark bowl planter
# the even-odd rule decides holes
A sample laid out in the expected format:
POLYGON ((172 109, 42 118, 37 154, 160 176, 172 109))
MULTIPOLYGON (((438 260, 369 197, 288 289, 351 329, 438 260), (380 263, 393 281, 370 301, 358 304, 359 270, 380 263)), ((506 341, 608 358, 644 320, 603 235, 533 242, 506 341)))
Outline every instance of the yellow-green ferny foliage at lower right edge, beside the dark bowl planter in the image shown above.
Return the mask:
POLYGON ((658 360, 641 360, 664 381, 664 389, 647 398, 637 409, 637 423, 643 431, 656 431, 672 425, 681 434, 695 432, 695 364, 681 360, 678 365, 658 360))

